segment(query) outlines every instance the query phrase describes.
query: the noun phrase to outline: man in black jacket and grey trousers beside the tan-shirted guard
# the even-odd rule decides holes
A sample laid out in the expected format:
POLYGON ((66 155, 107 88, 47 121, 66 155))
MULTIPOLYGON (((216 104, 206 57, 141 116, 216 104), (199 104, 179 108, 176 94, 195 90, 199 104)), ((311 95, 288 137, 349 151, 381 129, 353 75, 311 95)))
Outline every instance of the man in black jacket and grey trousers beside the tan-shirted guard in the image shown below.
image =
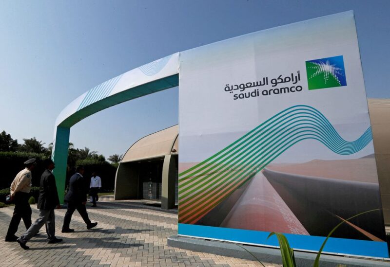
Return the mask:
POLYGON ((29 247, 26 246, 27 241, 29 241, 44 224, 46 225, 46 233, 49 239, 47 243, 54 244, 62 241, 62 239, 57 238, 55 235, 54 209, 59 209, 61 206, 59 205, 56 179, 52 172, 54 169, 54 162, 51 159, 46 159, 43 163, 46 170, 40 177, 38 200, 39 217, 30 228, 17 239, 20 247, 23 249, 29 249, 29 247))

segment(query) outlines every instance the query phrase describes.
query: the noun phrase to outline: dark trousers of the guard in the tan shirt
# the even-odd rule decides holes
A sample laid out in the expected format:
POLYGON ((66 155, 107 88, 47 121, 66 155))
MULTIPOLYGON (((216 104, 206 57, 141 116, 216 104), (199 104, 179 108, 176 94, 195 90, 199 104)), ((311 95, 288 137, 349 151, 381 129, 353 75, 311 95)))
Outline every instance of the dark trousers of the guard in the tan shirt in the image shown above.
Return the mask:
POLYGON ((28 204, 30 194, 24 192, 16 192, 14 197, 15 208, 14 214, 12 214, 11 222, 9 223, 7 236, 12 238, 18 231, 20 220, 23 219, 26 229, 31 226, 31 207, 28 204))

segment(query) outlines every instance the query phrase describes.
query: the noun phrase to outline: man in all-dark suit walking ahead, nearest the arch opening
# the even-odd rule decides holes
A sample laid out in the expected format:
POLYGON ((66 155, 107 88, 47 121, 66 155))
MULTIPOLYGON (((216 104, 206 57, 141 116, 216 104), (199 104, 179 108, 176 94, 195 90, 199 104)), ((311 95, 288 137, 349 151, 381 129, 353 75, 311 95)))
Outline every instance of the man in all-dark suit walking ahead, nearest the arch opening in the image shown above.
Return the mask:
POLYGON ((98 225, 97 222, 92 223, 88 217, 85 204, 87 203, 87 184, 84 181, 82 175, 84 174, 84 167, 78 166, 76 173, 69 180, 69 191, 65 196, 65 202, 68 202, 68 210, 64 217, 64 224, 62 225, 62 232, 74 232, 74 229, 70 229, 70 221, 72 214, 75 210, 81 215, 87 229, 91 229, 98 225))

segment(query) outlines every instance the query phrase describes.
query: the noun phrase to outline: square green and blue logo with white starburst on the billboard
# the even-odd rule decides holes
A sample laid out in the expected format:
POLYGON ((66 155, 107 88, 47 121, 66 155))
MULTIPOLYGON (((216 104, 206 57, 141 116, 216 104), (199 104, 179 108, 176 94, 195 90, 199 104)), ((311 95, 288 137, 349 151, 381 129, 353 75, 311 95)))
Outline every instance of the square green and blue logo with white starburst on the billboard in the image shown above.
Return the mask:
POLYGON ((343 56, 306 61, 309 90, 346 86, 343 56))

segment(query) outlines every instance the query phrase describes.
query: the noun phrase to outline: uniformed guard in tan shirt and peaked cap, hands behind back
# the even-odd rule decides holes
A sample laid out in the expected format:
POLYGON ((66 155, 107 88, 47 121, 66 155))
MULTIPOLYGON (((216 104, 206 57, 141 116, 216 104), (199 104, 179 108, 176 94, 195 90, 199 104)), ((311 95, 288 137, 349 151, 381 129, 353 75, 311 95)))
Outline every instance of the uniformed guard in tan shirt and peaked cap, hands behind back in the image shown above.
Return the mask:
POLYGON ((10 191, 11 199, 15 203, 15 209, 9 223, 7 235, 5 236, 6 242, 15 242, 18 239, 15 233, 18 231, 20 219, 23 219, 26 229, 31 226, 31 208, 30 204, 28 204, 28 199, 31 191, 31 171, 34 170, 36 165, 35 158, 25 161, 25 168, 12 181, 10 191))

